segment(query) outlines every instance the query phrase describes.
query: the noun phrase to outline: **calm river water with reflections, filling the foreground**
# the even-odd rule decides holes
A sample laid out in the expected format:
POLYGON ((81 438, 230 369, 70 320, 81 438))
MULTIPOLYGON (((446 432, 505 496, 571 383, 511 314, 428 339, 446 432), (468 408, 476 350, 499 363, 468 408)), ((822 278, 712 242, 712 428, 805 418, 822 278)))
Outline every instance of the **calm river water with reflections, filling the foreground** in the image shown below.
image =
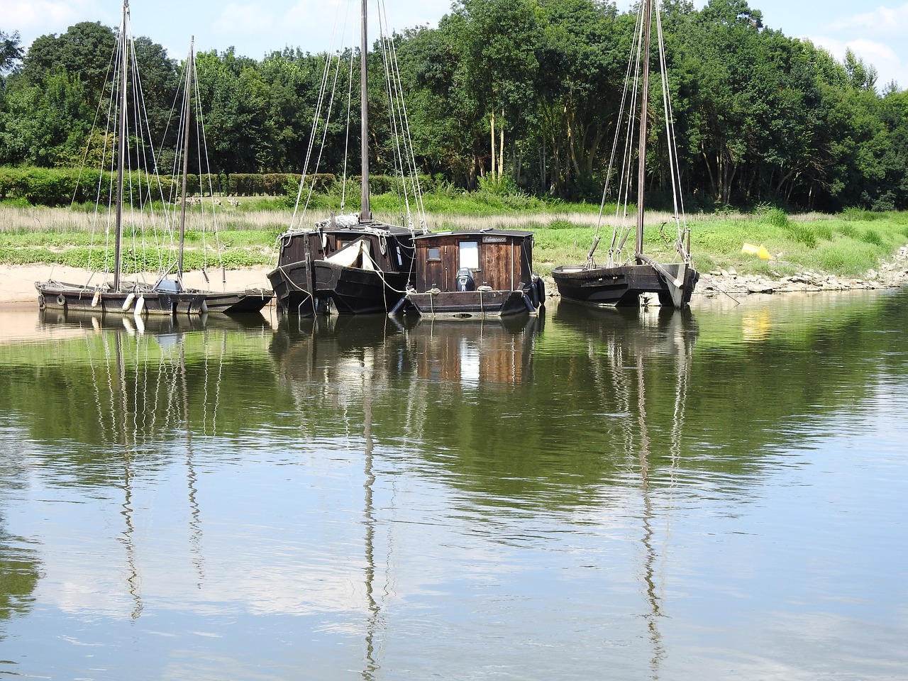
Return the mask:
POLYGON ((0 312, 0 673, 903 679, 908 291, 0 312))

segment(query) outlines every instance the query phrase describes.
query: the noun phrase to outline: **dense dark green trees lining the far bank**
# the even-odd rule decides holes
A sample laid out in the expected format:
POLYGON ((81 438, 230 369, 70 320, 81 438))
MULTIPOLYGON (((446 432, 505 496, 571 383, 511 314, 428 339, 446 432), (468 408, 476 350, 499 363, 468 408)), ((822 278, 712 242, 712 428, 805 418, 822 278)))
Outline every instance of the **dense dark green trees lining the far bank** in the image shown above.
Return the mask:
MULTIPOLYGON (((851 53, 840 63, 783 35, 745 0, 661 5, 688 210, 761 203, 782 216, 908 210, 908 94, 897 86, 878 92, 872 64, 851 53)), ((449 195, 479 189, 503 206, 528 196, 598 202, 634 18, 598 0, 457 0, 438 28, 393 36, 423 188, 449 195)), ((163 138, 176 64, 148 38, 135 47, 153 133, 163 138)), ((91 22, 41 36, 27 54, 17 34, 0 32, 0 74, 9 72, 0 87, 0 165, 98 165, 104 133, 91 128, 109 94, 113 48, 114 29, 91 22)), ((283 201, 289 181, 314 171, 317 191, 328 196, 329 178, 345 172, 345 155, 350 176, 359 163, 358 150, 347 151, 358 146, 358 104, 356 95, 344 100, 358 89, 359 71, 350 76, 349 68, 356 56, 353 50, 331 62, 344 95, 333 103, 332 120, 313 131, 326 55, 293 48, 261 61, 232 48, 197 54, 213 191, 283 201), (310 139, 324 140, 318 167, 304 167, 310 139)), ((371 53, 371 189, 393 193, 397 141, 383 70, 380 54, 371 53)), ((670 205, 668 150, 655 104, 650 116, 647 183, 659 208, 670 205)), ((165 173, 173 172, 172 156, 159 158, 165 173)), ((33 179, 27 191, 10 193, 0 183, 0 192, 60 202, 62 187, 49 176, 43 187, 33 179)), ((191 180, 190 191, 207 192, 207 183, 191 180)))

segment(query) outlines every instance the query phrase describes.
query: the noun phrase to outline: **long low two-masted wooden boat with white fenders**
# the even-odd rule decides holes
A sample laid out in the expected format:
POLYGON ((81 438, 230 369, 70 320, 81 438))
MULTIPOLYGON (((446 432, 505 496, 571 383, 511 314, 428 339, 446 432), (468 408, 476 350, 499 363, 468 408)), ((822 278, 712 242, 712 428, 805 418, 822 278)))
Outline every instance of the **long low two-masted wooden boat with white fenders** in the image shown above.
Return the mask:
MULTIPOLYGON (((183 242, 186 220, 186 174, 188 171, 188 153, 190 118, 192 113, 192 76, 194 58, 192 48, 186 64, 186 80, 183 108, 183 176, 180 195, 180 239, 177 260, 166 271, 157 275, 153 283, 148 281, 123 280, 123 232, 125 231, 123 205, 123 173, 128 171, 128 154, 126 142, 127 131, 127 94, 133 93, 133 99, 141 93, 138 78, 128 83, 128 74, 137 74, 135 46, 129 28, 129 2, 123 2, 123 22, 117 39, 114 53, 116 80, 114 93, 118 94, 116 106, 117 122, 111 128, 116 138, 116 188, 115 195, 110 197, 107 208, 114 212, 114 268, 106 272, 104 281, 84 283, 67 283, 64 281, 36 281, 38 307, 41 310, 92 311, 98 313, 134 314, 134 315, 175 315, 204 314, 222 312, 227 314, 240 312, 257 312, 273 298, 273 292, 265 288, 253 288, 244 291, 205 291, 183 287, 183 242), (108 279, 108 275, 111 277, 108 279)), ((136 116, 141 120, 143 117, 136 116)), ((144 136, 148 131, 143 131, 144 136)), ((150 138, 150 134, 148 134, 150 138)), ((181 150, 178 150, 178 154, 181 150)), ((207 173, 206 173, 207 174, 207 173)), ((145 188, 151 192, 151 187, 145 188)), ((101 196, 99 189, 98 196, 101 196)), ((140 212, 143 212, 140 209, 140 212)), ((145 217, 142 218, 143 220, 145 217)), ((133 227, 133 229, 136 229, 133 227)))

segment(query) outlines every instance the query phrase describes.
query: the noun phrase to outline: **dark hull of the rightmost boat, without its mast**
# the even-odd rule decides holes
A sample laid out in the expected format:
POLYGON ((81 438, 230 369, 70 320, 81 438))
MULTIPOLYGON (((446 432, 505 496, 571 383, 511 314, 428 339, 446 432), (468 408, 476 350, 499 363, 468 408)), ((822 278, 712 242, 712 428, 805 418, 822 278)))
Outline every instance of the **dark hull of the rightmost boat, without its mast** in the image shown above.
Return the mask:
POLYGON ((640 296, 656 294, 662 305, 685 308, 700 278, 699 272, 683 263, 660 265, 665 274, 650 264, 585 268, 561 265, 552 269, 552 279, 562 300, 591 305, 639 306, 640 296), (680 286, 668 281, 680 278, 680 286), (673 295, 674 294, 674 295, 673 295))

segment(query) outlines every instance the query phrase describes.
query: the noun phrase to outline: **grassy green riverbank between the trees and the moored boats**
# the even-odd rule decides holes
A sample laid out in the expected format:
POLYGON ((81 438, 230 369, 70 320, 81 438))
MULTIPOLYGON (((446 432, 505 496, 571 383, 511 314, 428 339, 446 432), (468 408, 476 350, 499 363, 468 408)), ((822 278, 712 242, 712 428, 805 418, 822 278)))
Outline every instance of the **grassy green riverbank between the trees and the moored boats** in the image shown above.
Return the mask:
MULTIPOLYGON (((584 262, 598 207, 590 205, 486 206, 475 202, 428 202, 429 229, 459 226, 505 227, 536 232, 536 269, 548 274, 555 264, 584 262)), ((400 223, 400 215, 375 205, 376 217, 400 223)), ((310 212, 304 224, 328 216, 310 212)), ((228 269, 273 263, 277 236, 291 222, 291 209, 274 200, 244 199, 238 205, 220 206, 216 220, 198 207, 190 212, 185 267, 221 265, 228 269), (207 224, 203 224, 207 222, 207 224), (216 234, 212 232, 216 226, 216 234)), ((597 260, 605 260, 611 240, 614 209, 602 221, 602 242, 597 260)), ((786 215, 778 209, 755 213, 688 215, 691 250, 700 271, 734 270, 742 274, 780 277, 800 271, 840 276, 861 276, 890 258, 908 243, 908 213, 853 210, 839 215, 786 215), (742 252, 751 243, 764 246, 773 258, 742 252)), ((646 250, 670 259, 674 222, 666 213, 648 212, 646 250), (665 236, 659 227, 665 224, 665 236)), ((107 225, 84 207, 42 208, 0 203, 0 263, 56 263, 88 269, 104 269, 107 225)), ((173 238, 155 234, 149 227, 124 240, 127 269, 158 269, 158 244, 174 249, 173 238)))

